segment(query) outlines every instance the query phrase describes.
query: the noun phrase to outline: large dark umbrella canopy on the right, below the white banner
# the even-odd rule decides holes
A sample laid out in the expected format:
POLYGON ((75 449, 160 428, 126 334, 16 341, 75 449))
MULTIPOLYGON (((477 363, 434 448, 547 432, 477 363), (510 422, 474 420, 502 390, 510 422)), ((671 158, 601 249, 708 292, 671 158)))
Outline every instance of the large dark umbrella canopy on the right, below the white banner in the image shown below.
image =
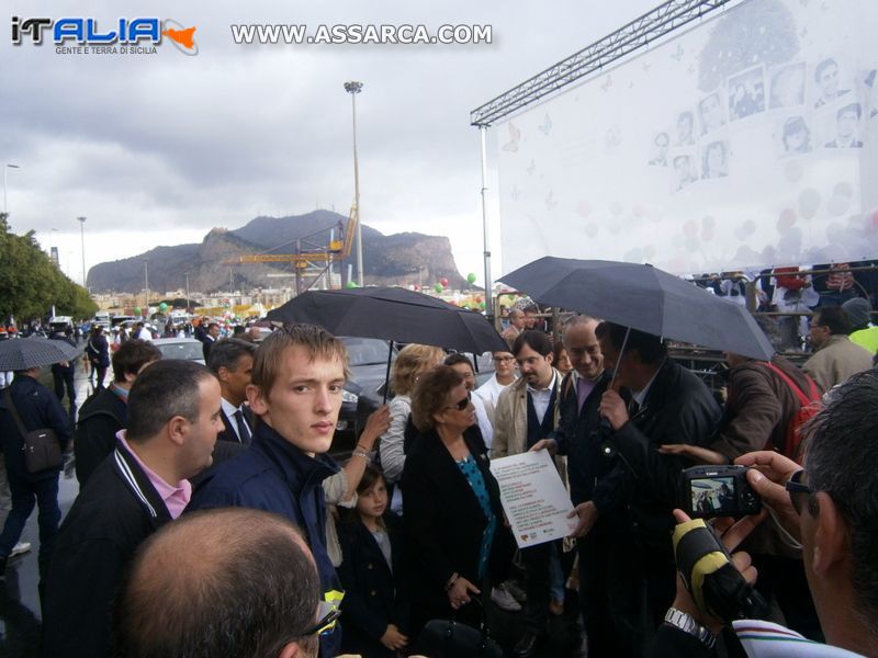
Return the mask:
POLYGON ((754 359, 774 354, 745 308, 652 265, 544 257, 500 281, 540 304, 654 336, 754 359))

